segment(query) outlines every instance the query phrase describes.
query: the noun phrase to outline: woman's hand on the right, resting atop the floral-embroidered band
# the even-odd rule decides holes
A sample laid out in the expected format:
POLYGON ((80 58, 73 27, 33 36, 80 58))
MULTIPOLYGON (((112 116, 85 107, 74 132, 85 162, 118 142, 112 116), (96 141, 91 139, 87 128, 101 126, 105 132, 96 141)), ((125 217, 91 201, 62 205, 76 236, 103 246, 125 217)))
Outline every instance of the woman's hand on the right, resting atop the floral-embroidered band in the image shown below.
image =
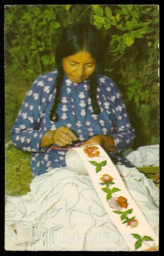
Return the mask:
POLYGON ((111 136, 108 135, 95 135, 89 140, 86 140, 80 148, 91 145, 100 145, 107 151, 115 151, 115 141, 111 136))

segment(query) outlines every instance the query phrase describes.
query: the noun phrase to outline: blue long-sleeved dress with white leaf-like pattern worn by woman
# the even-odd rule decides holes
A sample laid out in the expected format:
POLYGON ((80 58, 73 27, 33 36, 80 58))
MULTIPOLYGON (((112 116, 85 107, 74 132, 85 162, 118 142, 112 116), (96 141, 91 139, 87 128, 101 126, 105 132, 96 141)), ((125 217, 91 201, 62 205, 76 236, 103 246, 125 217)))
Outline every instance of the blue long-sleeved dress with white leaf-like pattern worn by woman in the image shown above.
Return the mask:
POLYGON ((78 136, 78 141, 85 141, 96 134, 112 136, 115 140, 115 152, 108 152, 114 164, 132 167, 121 156, 125 148, 130 148, 134 129, 130 126, 125 105, 116 84, 108 77, 98 75, 97 100, 101 113, 94 114, 89 95, 88 80, 80 84, 71 82, 64 76, 61 88, 61 102, 56 112, 57 122, 50 121, 49 113, 56 93, 57 69, 38 76, 22 103, 18 116, 11 129, 13 145, 31 152, 33 176, 41 175, 56 167, 64 167, 66 150, 49 147, 40 149, 42 136, 48 130, 55 130, 63 125, 78 136))

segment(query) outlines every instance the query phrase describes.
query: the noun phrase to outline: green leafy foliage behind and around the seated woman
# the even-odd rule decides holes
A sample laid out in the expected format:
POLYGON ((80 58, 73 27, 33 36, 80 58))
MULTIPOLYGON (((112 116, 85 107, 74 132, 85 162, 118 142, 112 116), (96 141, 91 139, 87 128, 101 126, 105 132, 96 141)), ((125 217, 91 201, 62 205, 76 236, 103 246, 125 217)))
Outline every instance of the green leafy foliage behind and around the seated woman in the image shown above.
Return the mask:
MULTIPOLYGON (((159 11, 157 5, 9 5, 5 7, 6 142, 26 91, 56 68, 62 28, 90 22, 101 29, 107 49, 102 73, 119 86, 134 148, 159 143, 159 11)), ((95 42, 96 43, 96 42, 95 42)))

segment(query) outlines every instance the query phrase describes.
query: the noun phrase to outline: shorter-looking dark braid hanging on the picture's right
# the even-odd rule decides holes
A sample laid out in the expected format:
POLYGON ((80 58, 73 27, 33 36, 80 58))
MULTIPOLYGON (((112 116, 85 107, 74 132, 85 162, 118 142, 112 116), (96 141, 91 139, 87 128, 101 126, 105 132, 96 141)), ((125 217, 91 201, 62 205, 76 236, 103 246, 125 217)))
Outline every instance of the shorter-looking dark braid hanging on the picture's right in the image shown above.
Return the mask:
POLYGON ((95 71, 89 77, 89 86, 90 86, 89 92, 90 92, 90 97, 91 97, 93 113, 99 114, 100 108, 97 103, 97 97, 96 97, 97 96, 97 73, 95 71))

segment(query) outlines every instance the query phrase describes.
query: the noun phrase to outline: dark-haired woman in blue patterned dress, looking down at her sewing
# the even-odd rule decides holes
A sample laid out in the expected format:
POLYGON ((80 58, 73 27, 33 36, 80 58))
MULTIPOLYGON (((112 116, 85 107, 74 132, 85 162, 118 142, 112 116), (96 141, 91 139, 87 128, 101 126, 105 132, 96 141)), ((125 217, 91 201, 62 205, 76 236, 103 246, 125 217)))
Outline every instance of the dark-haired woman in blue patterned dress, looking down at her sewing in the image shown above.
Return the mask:
POLYGON ((64 29, 56 48, 57 69, 39 76, 11 130, 15 147, 31 153, 33 175, 65 166, 64 147, 85 141, 101 145, 114 163, 131 164, 119 156, 131 147, 134 129, 114 82, 98 74, 104 52, 101 35, 90 24, 64 29))

